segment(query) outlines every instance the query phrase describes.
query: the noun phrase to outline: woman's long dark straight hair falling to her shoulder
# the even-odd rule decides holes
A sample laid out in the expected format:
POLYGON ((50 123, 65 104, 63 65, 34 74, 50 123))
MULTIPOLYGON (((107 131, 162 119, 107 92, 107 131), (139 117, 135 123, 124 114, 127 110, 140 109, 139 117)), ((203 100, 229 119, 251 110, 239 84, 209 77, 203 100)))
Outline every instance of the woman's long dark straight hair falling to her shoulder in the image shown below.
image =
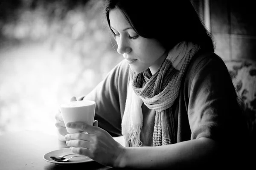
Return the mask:
POLYGON ((137 34, 157 39, 167 49, 185 40, 209 51, 215 50, 211 34, 189 0, 106 0, 105 16, 109 27, 109 11, 114 8, 124 14, 137 34))

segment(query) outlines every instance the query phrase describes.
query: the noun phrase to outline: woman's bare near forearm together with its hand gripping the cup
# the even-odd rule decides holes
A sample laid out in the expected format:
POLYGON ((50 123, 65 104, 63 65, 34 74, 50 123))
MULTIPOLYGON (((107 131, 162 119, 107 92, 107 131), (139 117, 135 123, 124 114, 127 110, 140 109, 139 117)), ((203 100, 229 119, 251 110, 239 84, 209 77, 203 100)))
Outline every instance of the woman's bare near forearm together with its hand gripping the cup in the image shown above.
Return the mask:
POLYGON ((136 169, 198 168, 211 167, 218 162, 218 144, 212 139, 199 139, 157 147, 123 147, 102 128, 83 122, 70 122, 70 128, 86 131, 65 136, 73 153, 111 167, 136 169))

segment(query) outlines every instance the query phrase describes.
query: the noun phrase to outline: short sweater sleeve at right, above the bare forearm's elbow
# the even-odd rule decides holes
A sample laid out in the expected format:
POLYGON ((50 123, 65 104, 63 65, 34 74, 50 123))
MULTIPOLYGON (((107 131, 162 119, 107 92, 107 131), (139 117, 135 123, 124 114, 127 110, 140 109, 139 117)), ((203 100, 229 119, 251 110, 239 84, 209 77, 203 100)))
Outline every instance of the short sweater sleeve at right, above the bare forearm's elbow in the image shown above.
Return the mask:
MULTIPOLYGON (((188 87, 191 139, 237 140, 241 111, 224 62, 208 55, 192 68, 188 87)), ((242 122, 242 121, 241 121, 242 122)))

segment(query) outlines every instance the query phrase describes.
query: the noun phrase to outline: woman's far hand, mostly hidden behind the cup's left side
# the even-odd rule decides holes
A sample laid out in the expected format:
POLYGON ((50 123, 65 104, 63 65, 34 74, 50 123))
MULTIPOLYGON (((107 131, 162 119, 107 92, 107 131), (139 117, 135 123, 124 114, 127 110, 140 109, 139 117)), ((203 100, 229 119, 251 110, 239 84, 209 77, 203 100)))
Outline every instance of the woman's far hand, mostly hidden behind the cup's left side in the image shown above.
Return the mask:
MULTIPOLYGON (((72 101, 76 101, 76 97, 71 97, 70 102, 72 101)), ((58 109, 58 112, 55 114, 55 120, 55 126, 57 127, 59 133, 58 139, 61 141, 66 141, 66 139, 64 139, 64 136, 69 133, 67 132, 60 109, 58 109)))

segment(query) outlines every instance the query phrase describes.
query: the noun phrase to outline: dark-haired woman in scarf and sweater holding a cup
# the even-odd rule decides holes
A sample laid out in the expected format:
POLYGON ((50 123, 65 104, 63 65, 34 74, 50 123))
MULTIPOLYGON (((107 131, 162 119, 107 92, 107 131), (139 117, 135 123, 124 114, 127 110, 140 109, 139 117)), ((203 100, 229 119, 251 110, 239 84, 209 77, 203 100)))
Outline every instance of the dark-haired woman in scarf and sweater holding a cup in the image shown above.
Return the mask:
POLYGON ((67 127, 88 134, 68 134, 55 116, 71 150, 112 167, 230 167, 224 158, 241 154, 246 122, 190 1, 107 0, 105 15, 125 59, 79 98, 96 101, 94 126, 67 127), (124 136, 126 147, 112 136, 124 136))

